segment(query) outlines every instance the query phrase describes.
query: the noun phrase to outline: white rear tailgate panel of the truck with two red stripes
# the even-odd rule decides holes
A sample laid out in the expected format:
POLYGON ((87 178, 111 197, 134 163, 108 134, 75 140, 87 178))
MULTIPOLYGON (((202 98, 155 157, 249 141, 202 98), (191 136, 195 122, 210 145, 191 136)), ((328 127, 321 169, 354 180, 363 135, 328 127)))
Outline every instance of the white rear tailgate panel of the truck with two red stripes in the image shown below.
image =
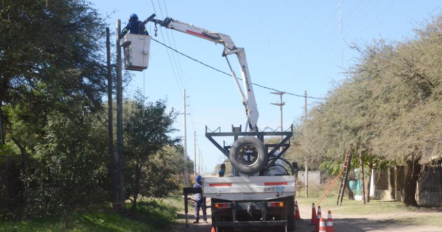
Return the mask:
POLYGON ((205 177, 202 195, 230 201, 271 200, 294 196, 293 176, 205 177))

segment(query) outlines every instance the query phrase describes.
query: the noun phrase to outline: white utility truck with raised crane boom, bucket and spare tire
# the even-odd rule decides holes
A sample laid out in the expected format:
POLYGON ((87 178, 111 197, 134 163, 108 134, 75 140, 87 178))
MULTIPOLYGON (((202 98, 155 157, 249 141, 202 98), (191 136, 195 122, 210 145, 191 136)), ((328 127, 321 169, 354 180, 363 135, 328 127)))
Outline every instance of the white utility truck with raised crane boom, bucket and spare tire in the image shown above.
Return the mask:
MULTIPOLYGON (((211 131, 206 126, 206 137, 222 152, 232 164, 231 175, 203 178, 203 188, 185 188, 185 209, 188 212, 187 196, 202 192, 211 198, 212 226, 216 231, 242 230, 244 227, 260 227, 261 231, 279 228, 282 231, 294 230, 294 196, 296 193, 294 173, 295 162, 283 158, 290 146, 292 126, 283 131, 260 130, 257 127, 259 112, 256 106, 253 85, 247 65, 244 48, 236 47, 230 36, 212 32, 204 28, 183 23, 173 18, 164 20, 152 14, 144 24, 157 25, 224 46, 222 56, 229 65, 231 75, 240 92, 245 107, 247 122, 244 130, 232 126, 229 132, 221 132, 218 127, 211 131), (236 55, 243 81, 243 88, 228 59, 236 55), (281 137, 280 142, 265 144, 266 137, 281 137), (220 145, 215 137, 230 137, 232 144, 220 145), (261 226, 267 226, 263 228, 261 226), (269 228, 271 227, 271 228, 269 228)), ((140 30, 141 31, 141 30, 140 30)), ((148 66, 151 36, 126 34, 120 41, 124 48, 125 68, 141 71, 148 66)), ((187 215, 186 215, 187 218, 187 215)), ((187 223, 187 220, 186 220, 187 223)))

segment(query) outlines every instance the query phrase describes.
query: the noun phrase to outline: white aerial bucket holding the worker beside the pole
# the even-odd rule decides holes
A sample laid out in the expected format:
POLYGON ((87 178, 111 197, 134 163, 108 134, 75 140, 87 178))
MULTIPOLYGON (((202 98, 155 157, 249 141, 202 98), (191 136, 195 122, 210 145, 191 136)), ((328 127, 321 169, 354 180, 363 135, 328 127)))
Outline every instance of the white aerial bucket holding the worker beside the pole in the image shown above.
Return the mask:
POLYGON ((143 34, 126 34, 120 40, 124 50, 124 69, 143 71, 149 66, 151 36, 143 34))

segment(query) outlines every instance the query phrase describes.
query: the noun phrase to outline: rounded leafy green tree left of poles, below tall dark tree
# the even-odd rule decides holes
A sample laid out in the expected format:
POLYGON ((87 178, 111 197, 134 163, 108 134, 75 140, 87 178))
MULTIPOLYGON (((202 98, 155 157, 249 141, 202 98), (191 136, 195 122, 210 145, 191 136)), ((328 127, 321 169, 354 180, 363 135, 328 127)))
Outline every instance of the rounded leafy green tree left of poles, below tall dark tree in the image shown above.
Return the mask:
POLYGON ((64 211, 66 226, 71 213, 107 196, 105 124, 94 114, 80 111, 71 117, 52 113, 36 146, 34 172, 25 179, 28 216, 64 211))

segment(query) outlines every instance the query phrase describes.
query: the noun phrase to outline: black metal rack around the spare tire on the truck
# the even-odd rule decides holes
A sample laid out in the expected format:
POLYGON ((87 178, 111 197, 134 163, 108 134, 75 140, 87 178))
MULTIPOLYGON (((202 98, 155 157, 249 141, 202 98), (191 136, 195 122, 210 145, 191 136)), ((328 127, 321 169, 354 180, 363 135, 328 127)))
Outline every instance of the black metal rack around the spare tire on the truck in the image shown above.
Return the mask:
MULTIPOLYGON (((256 127, 257 128, 257 127, 256 127)), ((287 129, 286 131, 249 131, 249 132, 241 132, 241 125, 240 127, 234 127, 232 125, 232 132, 221 132, 221 128, 218 127, 216 128, 217 131, 219 130, 219 132, 214 132, 214 131, 210 131, 208 132, 208 127, 206 126, 206 138, 213 143, 213 145, 215 145, 216 148, 218 148, 221 152, 223 152, 223 154, 229 158, 229 152, 230 152, 230 148, 232 147, 231 145, 226 145, 226 142, 223 141, 223 146, 221 146, 218 142, 216 142, 213 137, 226 137, 226 136, 233 136, 233 140, 236 141, 240 136, 252 136, 252 137, 256 137, 259 140, 261 140, 262 142, 264 142, 264 136, 284 136, 284 139, 282 141, 280 141, 277 144, 264 144, 266 146, 267 149, 272 148, 271 151, 269 151, 268 153, 268 157, 270 158, 280 158, 285 151, 287 151, 287 149, 290 147, 290 138, 293 136, 293 124, 290 125, 290 128, 287 129), (238 132, 239 130, 239 132, 238 132), (273 156, 274 153, 280 149, 283 148, 280 153, 276 156, 273 156)), ((270 165, 273 165, 274 162, 277 159, 273 160, 270 165)))

